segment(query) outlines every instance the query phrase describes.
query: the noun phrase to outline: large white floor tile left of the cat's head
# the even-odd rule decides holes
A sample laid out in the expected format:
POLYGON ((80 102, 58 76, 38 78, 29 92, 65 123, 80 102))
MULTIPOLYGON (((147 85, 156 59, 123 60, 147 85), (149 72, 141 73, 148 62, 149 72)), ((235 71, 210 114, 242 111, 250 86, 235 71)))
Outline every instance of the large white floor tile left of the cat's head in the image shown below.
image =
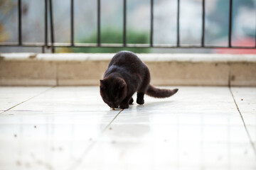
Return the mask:
POLYGON ((119 113, 99 97, 96 87, 58 87, 2 113, 0 169, 70 166, 119 113))

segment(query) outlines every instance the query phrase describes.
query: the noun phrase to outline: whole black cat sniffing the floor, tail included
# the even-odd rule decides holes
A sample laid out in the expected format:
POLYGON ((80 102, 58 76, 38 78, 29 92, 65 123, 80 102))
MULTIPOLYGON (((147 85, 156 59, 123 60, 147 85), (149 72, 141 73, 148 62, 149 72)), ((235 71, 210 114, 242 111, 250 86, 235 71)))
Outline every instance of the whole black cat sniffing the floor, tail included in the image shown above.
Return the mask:
POLYGON ((144 104, 144 94, 166 98, 178 91, 157 89, 149 82, 149 69, 137 55, 127 51, 117 52, 100 80, 100 95, 110 108, 129 108, 136 91, 137 103, 140 105, 144 104))

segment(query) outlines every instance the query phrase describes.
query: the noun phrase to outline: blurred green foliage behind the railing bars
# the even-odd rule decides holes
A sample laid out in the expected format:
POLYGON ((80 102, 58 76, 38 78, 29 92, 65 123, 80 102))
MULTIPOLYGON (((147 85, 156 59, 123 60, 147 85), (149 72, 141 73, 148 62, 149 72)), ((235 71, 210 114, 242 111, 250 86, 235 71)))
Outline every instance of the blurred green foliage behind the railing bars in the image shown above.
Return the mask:
MULTIPOLYGON (((123 42, 123 33, 119 30, 105 29, 100 33, 101 43, 119 43, 123 42)), ((78 40, 80 43, 97 43, 97 34, 93 34, 88 38, 78 40)), ((127 32, 127 43, 148 44, 149 33, 139 33, 135 31, 127 32)), ((134 48, 134 47, 60 47, 57 52, 87 52, 87 53, 115 53, 121 50, 129 50, 137 53, 148 53, 149 48, 134 48)))

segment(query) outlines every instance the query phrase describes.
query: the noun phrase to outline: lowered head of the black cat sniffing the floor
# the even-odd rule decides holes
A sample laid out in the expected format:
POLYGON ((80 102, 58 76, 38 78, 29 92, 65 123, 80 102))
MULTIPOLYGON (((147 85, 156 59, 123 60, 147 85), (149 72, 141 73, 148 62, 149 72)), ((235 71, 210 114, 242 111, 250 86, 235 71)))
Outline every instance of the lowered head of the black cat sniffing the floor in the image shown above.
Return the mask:
POLYGON ((124 79, 106 77, 100 80, 100 96, 110 108, 118 108, 127 95, 127 84, 124 79))

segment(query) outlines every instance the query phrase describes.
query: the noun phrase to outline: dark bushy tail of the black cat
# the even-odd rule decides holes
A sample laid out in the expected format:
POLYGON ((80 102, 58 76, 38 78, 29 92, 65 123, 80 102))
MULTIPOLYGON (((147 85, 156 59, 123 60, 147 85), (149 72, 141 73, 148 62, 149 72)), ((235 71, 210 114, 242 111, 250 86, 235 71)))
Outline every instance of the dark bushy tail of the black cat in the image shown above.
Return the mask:
POLYGON ((176 94, 177 91, 178 89, 158 89, 149 84, 149 88, 146 90, 146 94, 154 98, 166 98, 176 94))

